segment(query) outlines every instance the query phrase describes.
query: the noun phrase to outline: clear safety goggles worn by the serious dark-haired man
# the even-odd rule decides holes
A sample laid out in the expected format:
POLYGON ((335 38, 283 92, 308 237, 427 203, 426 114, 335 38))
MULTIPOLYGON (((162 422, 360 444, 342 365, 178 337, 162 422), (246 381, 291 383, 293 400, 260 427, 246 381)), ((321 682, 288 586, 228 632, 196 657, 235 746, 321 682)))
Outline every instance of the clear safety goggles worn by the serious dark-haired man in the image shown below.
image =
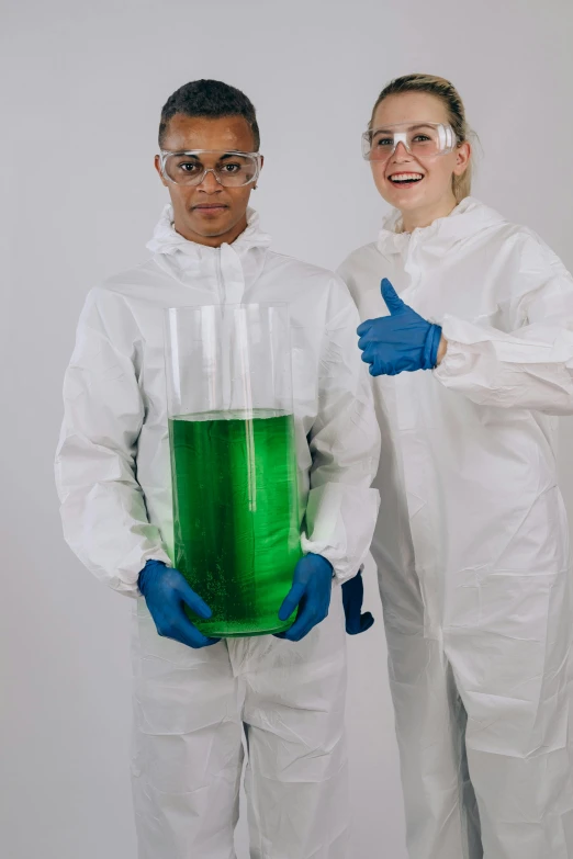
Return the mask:
POLYGON ((207 173, 213 173, 225 188, 241 188, 255 182, 260 173, 259 152, 223 151, 218 149, 189 149, 171 152, 161 149, 161 176, 178 185, 200 185, 207 173))

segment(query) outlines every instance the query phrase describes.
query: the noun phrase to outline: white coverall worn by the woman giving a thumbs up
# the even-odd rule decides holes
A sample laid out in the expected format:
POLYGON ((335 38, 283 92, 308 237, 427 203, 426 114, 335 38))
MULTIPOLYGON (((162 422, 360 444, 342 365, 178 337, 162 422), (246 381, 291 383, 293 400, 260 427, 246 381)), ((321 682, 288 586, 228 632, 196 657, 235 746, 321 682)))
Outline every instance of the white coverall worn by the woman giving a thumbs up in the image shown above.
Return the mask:
POLYGON ((395 227, 339 273, 362 320, 387 314, 389 278, 448 340, 436 371, 372 382, 372 551, 409 856, 570 859, 571 565, 553 416, 573 414, 573 280, 471 197, 427 228, 395 227))

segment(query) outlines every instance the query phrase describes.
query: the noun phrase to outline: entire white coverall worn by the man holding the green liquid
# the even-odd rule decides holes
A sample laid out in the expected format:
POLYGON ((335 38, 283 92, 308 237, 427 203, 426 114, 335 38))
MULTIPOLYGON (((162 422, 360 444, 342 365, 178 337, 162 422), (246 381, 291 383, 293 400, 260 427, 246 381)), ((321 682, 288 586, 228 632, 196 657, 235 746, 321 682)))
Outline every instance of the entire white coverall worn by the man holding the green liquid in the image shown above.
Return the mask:
POLYGON ((169 563, 172 512, 164 308, 288 302, 303 549, 344 580, 368 553, 379 429, 356 348, 358 314, 330 272, 269 250, 249 212, 233 245, 182 238, 166 207, 153 258, 93 290, 65 381, 56 474, 66 540, 99 578, 137 597, 133 784, 139 859, 232 859, 243 760, 254 859, 342 859, 345 624, 301 643, 237 638, 194 651, 161 638, 137 578, 169 563))

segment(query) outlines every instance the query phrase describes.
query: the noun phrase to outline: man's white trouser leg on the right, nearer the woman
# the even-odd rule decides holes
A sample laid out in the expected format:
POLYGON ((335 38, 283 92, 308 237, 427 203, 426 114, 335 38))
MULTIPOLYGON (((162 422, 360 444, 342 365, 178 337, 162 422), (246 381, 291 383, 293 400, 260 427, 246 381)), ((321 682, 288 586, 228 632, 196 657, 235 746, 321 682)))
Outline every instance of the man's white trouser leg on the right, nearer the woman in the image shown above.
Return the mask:
POLYGON ((246 660, 251 859, 346 859, 341 590, 301 642, 251 640, 246 660))

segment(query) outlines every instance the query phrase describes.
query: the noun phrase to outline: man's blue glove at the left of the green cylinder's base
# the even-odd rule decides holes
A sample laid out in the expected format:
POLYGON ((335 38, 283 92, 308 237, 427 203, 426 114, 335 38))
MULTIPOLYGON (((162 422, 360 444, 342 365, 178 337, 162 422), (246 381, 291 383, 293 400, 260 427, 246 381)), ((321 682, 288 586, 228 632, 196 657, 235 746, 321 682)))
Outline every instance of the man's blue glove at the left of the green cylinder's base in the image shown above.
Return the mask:
POLYGON ((220 641, 207 638, 187 617, 183 603, 205 620, 211 618, 211 609, 178 569, 168 567, 162 561, 148 561, 139 573, 137 585, 159 635, 195 649, 220 641))

